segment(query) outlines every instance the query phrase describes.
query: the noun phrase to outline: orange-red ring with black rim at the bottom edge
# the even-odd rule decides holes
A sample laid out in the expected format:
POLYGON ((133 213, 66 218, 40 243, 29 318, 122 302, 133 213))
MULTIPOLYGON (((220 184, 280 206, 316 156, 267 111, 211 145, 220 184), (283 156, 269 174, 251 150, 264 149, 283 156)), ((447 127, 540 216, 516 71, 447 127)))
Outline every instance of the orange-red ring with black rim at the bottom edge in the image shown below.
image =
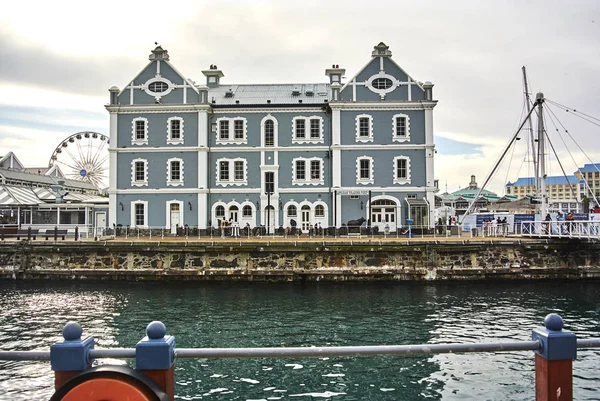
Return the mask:
POLYGON ((87 369, 56 390, 50 401, 168 401, 150 377, 126 366, 87 369))

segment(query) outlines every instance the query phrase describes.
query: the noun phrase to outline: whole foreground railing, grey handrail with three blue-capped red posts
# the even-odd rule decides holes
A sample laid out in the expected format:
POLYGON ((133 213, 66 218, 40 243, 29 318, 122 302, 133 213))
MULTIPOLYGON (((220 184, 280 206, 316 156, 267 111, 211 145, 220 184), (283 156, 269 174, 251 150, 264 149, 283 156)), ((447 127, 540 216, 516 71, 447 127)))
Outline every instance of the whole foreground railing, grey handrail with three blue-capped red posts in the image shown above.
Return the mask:
POLYGON ((55 371, 56 394, 59 394, 59 389, 62 386, 72 386, 73 380, 84 380, 82 377, 92 377, 89 380, 93 380, 94 375, 108 374, 99 372, 96 368, 90 369, 94 359, 135 358, 138 372, 151 377, 168 394, 169 399, 173 400, 176 358, 367 357, 534 351, 536 400, 554 400, 560 394, 561 401, 569 401, 573 394, 572 361, 576 358, 576 350, 600 348, 600 338, 578 340, 574 333, 563 330, 563 325, 559 315, 550 314, 544 320, 544 327, 532 331, 531 341, 343 347, 175 348, 175 338, 166 335, 165 325, 152 322, 146 329, 147 336, 138 342, 136 348, 94 349, 94 339, 88 337, 82 340, 79 324, 69 322, 63 329, 64 341, 52 345, 50 352, 0 351, 0 360, 49 360, 55 371), (78 379, 75 379, 76 376, 78 379))

